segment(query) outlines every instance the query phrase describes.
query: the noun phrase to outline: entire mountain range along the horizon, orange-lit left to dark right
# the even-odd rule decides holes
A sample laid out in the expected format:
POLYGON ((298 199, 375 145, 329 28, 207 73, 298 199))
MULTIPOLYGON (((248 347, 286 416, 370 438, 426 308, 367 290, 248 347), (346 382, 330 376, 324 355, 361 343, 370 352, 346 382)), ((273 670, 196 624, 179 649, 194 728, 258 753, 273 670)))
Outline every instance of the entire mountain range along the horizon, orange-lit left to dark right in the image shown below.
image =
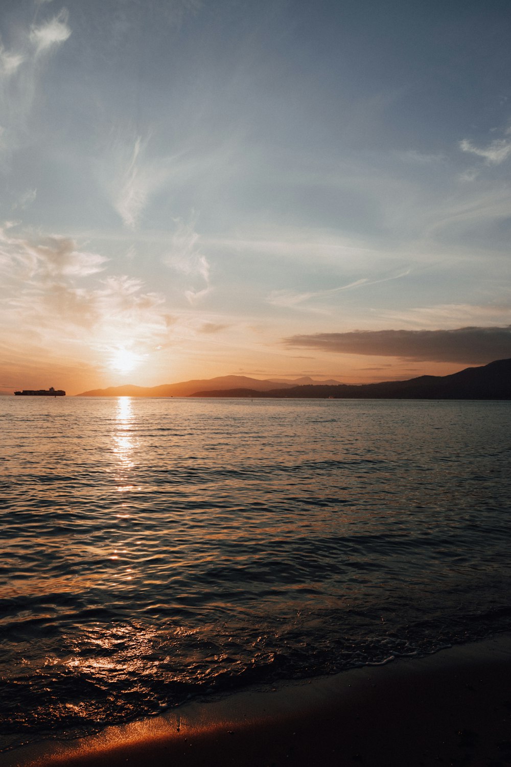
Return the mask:
POLYGON ((420 376, 381 384, 340 384, 309 377, 293 381, 258 380, 247 376, 209 379, 137 387, 131 384, 95 389, 77 397, 300 397, 323 399, 407 400, 511 400, 511 359, 496 360, 482 367, 467 367, 449 376, 420 376))

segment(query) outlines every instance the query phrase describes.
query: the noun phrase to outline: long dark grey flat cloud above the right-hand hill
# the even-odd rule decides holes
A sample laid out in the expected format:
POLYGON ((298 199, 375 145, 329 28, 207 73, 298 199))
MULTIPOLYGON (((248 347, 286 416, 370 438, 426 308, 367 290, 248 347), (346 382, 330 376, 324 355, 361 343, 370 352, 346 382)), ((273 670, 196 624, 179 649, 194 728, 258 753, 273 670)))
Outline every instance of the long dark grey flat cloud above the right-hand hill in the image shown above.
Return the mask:
POLYGON ((485 364, 511 357, 511 325, 503 328, 457 328, 436 331, 351 331, 294 335, 288 347, 306 347, 332 354, 401 357, 421 362, 485 364))

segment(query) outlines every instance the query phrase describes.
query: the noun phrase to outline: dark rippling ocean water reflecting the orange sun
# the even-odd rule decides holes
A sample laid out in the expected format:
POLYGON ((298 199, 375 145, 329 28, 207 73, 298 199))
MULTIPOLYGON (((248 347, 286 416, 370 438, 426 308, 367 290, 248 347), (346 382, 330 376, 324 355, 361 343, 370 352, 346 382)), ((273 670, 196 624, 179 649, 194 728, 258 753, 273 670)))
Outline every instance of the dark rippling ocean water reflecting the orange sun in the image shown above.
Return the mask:
POLYGON ((0 397, 2 749, 509 630, 510 416, 0 397))

